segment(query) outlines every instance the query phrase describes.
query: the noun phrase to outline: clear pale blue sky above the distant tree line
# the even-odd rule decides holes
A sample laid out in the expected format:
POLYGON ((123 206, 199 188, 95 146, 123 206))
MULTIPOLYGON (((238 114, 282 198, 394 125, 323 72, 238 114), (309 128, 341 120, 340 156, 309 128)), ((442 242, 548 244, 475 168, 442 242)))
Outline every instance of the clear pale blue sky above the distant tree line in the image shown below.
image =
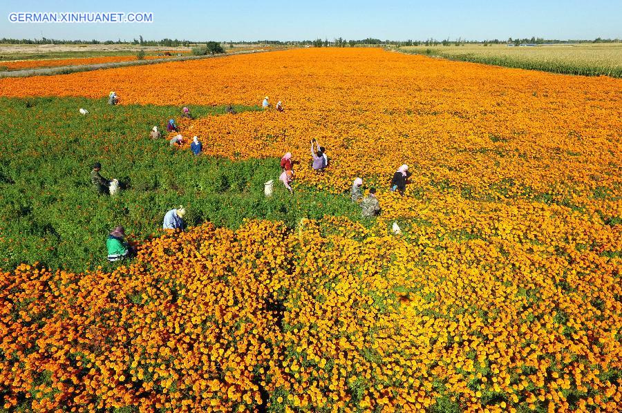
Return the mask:
POLYGON ((622 0, 3 0, 0 19, 0 37, 28 39, 622 38, 622 0), (153 23, 11 23, 11 12, 153 12, 153 23))

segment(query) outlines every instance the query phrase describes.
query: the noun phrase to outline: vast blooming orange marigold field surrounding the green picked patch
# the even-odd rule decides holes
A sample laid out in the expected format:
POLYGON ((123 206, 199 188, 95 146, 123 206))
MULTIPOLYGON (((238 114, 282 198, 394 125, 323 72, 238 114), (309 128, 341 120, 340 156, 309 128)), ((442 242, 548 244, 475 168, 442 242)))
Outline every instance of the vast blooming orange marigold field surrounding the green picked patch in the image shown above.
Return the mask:
POLYGON ((236 162, 291 151, 293 197, 348 197, 363 177, 382 213, 205 222, 113 271, 7 269, 4 409, 619 411, 622 79, 364 48, 0 79, 6 97, 109 90, 124 105, 281 100, 180 133, 236 162), (404 163, 411 183, 390 193, 404 163))

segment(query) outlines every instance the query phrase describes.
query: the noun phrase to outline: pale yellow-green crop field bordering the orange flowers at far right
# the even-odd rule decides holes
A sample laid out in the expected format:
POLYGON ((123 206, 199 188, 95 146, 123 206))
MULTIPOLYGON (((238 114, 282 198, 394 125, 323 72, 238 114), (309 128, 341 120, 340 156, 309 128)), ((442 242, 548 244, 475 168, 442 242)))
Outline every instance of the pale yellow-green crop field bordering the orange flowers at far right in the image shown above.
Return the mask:
POLYGON ((406 46, 407 53, 569 75, 622 77, 622 44, 406 46))

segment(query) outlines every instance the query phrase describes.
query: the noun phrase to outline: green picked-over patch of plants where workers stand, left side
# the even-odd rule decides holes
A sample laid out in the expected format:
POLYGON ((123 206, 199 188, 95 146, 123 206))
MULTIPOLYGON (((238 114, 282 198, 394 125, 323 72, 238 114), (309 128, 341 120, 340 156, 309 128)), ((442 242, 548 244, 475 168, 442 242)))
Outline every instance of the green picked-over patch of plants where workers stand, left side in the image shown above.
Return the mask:
MULTIPOLYGON (((236 111, 258 110, 236 106, 236 111)), ((345 215, 359 220, 347 196, 296 187, 278 180, 279 160, 232 161, 192 155, 153 141, 149 131, 176 117, 176 106, 109 106, 104 99, 0 99, 0 268, 42 262, 81 271, 108 267, 105 239, 123 225, 135 240, 160 233, 169 209, 183 204, 185 219, 238 227, 243 218, 282 220, 345 215), (87 108, 86 116, 76 108, 87 108), (126 186, 115 197, 91 188, 91 164, 126 186), (275 180, 271 198, 263 184, 275 180)), ((201 117, 225 106, 193 106, 201 117)))

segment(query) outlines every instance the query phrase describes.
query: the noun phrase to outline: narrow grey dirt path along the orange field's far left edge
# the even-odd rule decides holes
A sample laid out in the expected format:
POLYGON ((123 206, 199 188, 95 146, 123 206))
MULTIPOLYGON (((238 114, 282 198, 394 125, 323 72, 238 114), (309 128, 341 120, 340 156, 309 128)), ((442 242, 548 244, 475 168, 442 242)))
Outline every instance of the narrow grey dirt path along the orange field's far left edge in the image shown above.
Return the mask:
POLYGON ((131 60, 131 61, 114 61, 111 63, 85 64, 81 66, 57 66, 53 68, 34 68, 24 70, 11 70, 10 72, 0 72, 1 77, 28 77, 28 76, 46 76, 46 75, 66 75, 75 72, 88 72, 89 70, 120 68, 124 66, 140 66, 144 64, 159 64, 167 61, 184 61, 197 59, 211 59, 214 57, 226 57, 231 55, 247 55, 249 53, 261 53, 268 50, 244 50, 240 52, 230 52, 225 55, 211 56, 181 56, 171 57, 170 59, 153 59, 153 60, 131 60))

